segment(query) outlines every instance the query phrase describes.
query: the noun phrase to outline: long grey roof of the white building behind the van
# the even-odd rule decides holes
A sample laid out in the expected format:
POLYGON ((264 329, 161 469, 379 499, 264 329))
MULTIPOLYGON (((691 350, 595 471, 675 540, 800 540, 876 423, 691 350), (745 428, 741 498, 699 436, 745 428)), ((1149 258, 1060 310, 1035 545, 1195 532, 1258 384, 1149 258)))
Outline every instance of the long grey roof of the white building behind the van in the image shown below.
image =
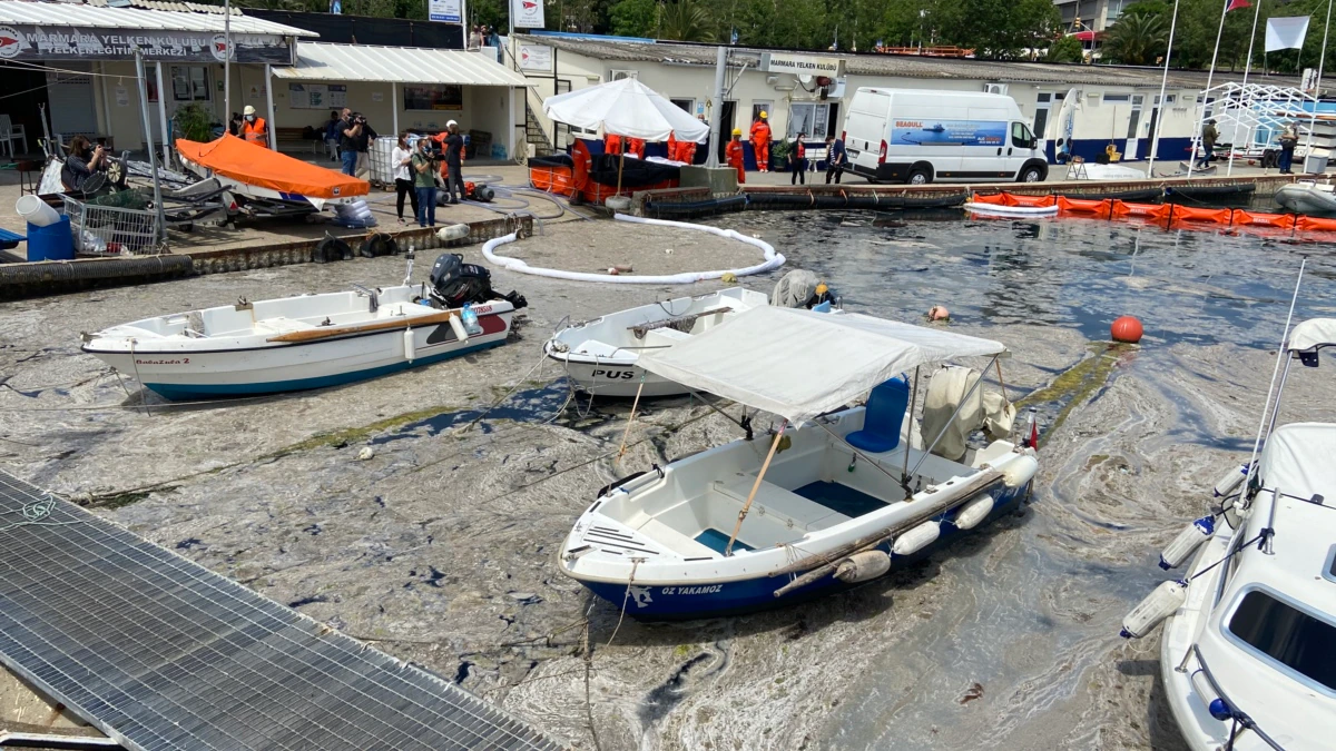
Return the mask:
MULTIPOLYGON (((719 45, 693 44, 683 41, 653 41, 629 37, 612 36, 574 36, 574 35, 521 35, 520 39, 530 44, 546 44, 562 52, 574 52, 600 60, 612 61, 643 61, 643 63, 669 63, 680 65, 713 65, 719 45)), ((745 63, 749 68, 760 64, 764 52, 803 53, 792 49, 760 49, 749 47, 731 47, 729 60, 732 64, 745 63)), ((846 60, 847 73, 860 76, 903 76, 914 79, 965 79, 990 80, 999 83, 1038 83, 1038 84, 1097 84, 1097 86, 1128 86, 1150 87, 1160 86, 1161 68, 1132 67, 1132 65, 1078 65, 1054 63, 1009 63, 998 60, 970 60, 926 57, 918 55, 882 55, 874 52, 808 52, 814 56, 839 57, 846 60)), ((1224 83, 1240 73, 1220 73, 1217 71, 1212 84, 1224 83)), ((1277 86, 1299 86, 1299 79, 1293 76, 1267 76, 1268 83, 1277 86)), ((1206 87, 1205 71, 1169 71, 1169 88, 1201 90, 1206 87)))

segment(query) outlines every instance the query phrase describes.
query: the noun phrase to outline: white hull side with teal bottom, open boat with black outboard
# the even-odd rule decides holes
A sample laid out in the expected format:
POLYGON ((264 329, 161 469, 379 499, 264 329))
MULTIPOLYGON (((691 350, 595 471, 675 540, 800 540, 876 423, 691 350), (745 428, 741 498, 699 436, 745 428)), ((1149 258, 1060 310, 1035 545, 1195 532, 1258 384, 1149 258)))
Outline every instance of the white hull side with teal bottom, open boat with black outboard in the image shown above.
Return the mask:
POLYGON ((99 350, 96 342, 83 349, 167 400, 274 394, 351 384, 500 346, 510 331, 510 315, 509 310, 480 315, 482 334, 466 341, 449 322, 414 327, 411 359, 403 327, 262 347, 144 347, 134 355, 99 350))

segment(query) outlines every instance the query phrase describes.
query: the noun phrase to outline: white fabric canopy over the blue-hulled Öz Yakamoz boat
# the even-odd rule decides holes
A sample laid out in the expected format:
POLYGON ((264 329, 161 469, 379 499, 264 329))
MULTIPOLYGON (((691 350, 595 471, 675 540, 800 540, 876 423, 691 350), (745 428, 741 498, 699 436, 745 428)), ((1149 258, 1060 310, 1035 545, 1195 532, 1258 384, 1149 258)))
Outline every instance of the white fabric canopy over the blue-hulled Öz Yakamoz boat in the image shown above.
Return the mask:
POLYGON ((915 366, 1003 351, 991 339, 871 315, 767 306, 641 354, 639 363, 800 425, 915 366))

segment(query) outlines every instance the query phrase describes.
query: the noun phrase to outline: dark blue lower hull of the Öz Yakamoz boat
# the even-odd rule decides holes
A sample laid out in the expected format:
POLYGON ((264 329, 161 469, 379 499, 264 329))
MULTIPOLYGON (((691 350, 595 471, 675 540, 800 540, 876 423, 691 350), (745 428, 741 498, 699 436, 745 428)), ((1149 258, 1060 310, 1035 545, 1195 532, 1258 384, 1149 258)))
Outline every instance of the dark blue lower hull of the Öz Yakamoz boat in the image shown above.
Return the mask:
MULTIPOLYGON (((1033 482, 1033 480, 1030 482, 1033 482)), ((959 529, 950 521, 942 522, 942 535, 935 543, 915 552, 914 555, 892 555, 890 571, 878 579, 884 579, 886 576, 903 568, 906 564, 923 559, 953 541, 983 528, 999 516, 1011 513, 1029 492, 1030 482, 1014 489, 1007 489, 1007 493, 998 498, 987 517, 971 529, 959 529)), ((879 549, 886 553, 891 552, 890 545, 882 545, 879 549)), ((570 576, 599 597, 612 603, 612 605, 617 609, 625 607, 625 613, 628 616, 637 620, 651 621, 693 620, 745 615, 788 607, 796 603, 867 584, 846 584, 831 575, 818 579, 800 589, 776 597, 775 592, 787 587, 788 583, 800 576, 800 573, 786 576, 767 576, 763 573, 751 579, 735 581, 680 581, 672 584, 653 583, 647 585, 632 584, 631 587, 625 583, 591 581, 581 579, 577 575, 570 576)), ((876 581, 876 579, 872 579, 871 581, 876 581)))

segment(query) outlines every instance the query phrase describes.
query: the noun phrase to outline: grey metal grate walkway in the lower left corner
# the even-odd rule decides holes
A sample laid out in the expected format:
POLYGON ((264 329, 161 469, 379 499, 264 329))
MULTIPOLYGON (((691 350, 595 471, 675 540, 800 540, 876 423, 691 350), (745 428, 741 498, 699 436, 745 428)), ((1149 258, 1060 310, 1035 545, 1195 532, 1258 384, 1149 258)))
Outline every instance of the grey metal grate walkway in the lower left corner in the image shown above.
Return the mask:
POLYGON ((0 661, 127 748, 560 748, 4 472, 0 661))

